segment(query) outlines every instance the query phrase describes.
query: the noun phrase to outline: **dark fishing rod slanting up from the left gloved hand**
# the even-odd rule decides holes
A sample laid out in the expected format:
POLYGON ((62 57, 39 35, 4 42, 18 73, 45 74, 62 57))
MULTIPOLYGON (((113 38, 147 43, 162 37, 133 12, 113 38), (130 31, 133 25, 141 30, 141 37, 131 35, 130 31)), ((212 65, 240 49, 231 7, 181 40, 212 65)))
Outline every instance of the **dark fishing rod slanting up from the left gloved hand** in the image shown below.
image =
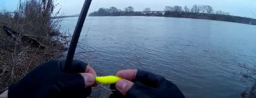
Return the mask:
POLYGON ((75 49, 76 49, 76 46, 77 46, 77 43, 78 43, 78 40, 79 40, 79 37, 80 37, 80 33, 81 33, 82 28, 84 26, 85 18, 86 18, 86 15, 88 13, 88 10, 90 8, 90 5, 91 5, 91 0, 85 0, 85 3, 83 5, 83 8, 80 12, 78 21, 77 21, 76 26, 75 26, 75 31, 73 33, 72 40, 71 40, 71 43, 70 43, 70 46, 69 46, 69 51, 68 51, 67 58, 66 58, 66 61, 65 61, 64 70, 71 69, 71 66, 72 66, 71 64, 73 62, 74 55, 75 55, 75 49))

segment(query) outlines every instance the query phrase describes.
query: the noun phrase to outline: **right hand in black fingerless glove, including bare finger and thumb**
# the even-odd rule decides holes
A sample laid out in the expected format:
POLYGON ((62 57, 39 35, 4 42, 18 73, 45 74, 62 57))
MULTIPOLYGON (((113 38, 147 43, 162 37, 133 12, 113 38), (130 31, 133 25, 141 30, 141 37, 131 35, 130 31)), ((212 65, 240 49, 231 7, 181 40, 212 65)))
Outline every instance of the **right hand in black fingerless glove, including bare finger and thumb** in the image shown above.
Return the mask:
POLYGON ((110 98, 185 98, 175 84, 160 75, 142 70, 123 70, 117 72, 123 78, 111 85, 110 98))

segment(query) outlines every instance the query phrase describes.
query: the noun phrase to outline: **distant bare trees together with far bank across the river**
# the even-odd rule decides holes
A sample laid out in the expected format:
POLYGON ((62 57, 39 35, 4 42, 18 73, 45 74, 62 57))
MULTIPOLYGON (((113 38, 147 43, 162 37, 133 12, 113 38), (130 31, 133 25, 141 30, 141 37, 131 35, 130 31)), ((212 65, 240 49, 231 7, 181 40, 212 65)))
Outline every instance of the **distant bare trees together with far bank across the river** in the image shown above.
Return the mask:
POLYGON ((193 5, 191 8, 178 5, 165 6, 164 11, 153 11, 150 8, 145 8, 143 11, 134 11, 132 6, 128 6, 123 10, 117 9, 116 7, 110 7, 100 8, 98 11, 92 12, 89 16, 164 16, 229 21, 256 25, 256 19, 232 16, 229 15, 228 12, 222 10, 214 12, 213 7, 210 5, 193 5))

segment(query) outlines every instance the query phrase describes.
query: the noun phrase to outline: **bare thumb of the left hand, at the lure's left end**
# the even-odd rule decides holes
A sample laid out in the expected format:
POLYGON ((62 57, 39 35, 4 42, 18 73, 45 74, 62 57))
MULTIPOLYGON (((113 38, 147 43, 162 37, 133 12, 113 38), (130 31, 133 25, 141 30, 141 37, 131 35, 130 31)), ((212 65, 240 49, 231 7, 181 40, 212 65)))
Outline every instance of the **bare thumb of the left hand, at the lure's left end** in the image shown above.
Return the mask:
POLYGON ((91 87, 95 84, 95 76, 91 73, 80 73, 85 80, 85 88, 91 87))

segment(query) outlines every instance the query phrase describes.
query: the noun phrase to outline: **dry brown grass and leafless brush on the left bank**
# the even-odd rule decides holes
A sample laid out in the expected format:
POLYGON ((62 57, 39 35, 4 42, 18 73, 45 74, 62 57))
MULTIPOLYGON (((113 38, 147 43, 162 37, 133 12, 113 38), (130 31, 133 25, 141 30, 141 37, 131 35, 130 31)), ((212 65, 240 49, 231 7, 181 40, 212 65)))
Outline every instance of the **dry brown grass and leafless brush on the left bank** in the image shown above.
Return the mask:
POLYGON ((64 57, 65 46, 69 43, 66 36, 59 32, 59 19, 51 19, 56 5, 53 0, 27 0, 21 3, 15 12, 3 11, 0 14, 0 93, 8 89, 34 67, 53 59, 64 57), (4 13, 4 14, 3 14, 4 13), (8 26, 17 32, 14 37, 7 36, 2 30, 8 26), (41 49, 22 41, 22 37, 29 36, 37 39, 41 49))

